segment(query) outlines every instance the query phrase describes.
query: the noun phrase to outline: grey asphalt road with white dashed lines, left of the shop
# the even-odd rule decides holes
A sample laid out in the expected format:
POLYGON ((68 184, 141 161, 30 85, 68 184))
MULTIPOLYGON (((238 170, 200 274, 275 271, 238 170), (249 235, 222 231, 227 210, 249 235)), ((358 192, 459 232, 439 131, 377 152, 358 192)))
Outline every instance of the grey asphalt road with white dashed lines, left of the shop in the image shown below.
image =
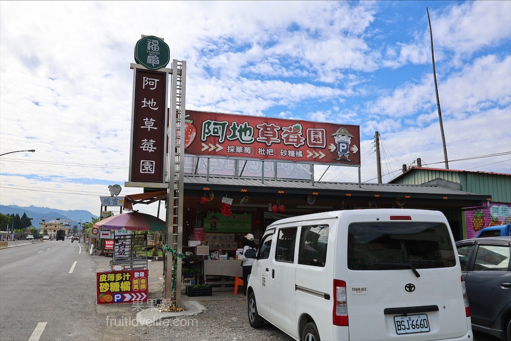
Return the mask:
POLYGON ((95 274, 96 263, 84 246, 69 239, 3 249, 0 339, 123 339, 113 328, 102 328, 95 274))

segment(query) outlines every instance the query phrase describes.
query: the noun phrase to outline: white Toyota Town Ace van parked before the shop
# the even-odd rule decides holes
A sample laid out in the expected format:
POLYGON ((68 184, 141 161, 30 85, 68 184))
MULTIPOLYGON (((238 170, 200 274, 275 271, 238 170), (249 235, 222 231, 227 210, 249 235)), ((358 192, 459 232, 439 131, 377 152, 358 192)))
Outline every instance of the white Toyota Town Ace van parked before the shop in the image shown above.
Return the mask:
POLYGON ((446 217, 344 210, 277 220, 248 279, 249 323, 296 340, 470 340, 470 308, 446 217))

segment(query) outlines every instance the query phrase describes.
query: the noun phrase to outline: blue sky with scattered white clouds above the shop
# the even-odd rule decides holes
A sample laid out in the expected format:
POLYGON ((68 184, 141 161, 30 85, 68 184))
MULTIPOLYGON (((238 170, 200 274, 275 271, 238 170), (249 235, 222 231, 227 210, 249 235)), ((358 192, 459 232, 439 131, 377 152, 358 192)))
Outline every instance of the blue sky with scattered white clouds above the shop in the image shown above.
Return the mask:
POLYGON ((383 183, 445 168, 427 8, 449 168, 511 173, 509 1, 2 1, 0 154, 36 151, 0 157, 0 204, 99 215, 109 185, 143 192, 124 186, 142 35, 186 61, 186 109, 358 125, 364 183, 376 131, 383 183))

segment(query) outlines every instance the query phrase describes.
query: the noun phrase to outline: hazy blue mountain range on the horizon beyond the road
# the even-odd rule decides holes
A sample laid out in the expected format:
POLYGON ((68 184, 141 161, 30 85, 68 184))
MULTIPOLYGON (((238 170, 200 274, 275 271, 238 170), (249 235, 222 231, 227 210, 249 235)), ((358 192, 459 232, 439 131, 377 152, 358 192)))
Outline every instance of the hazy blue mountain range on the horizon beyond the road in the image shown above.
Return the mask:
POLYGON ((74 225, 80 225, 80 223, 92 222, 92 218, 98 218, 97 215, 85 210, 63 211, 50 209, 48 207, 20 207, 17 205, 0 205, 0 213, 6 215, 19 214, 19 217, 26 213, 29 218, 32 218, 32 226, 35 226, 36 228, 39 228, 43 219, 51 220, 60 218, 71 220, 71 226, 73 227, 74 225))

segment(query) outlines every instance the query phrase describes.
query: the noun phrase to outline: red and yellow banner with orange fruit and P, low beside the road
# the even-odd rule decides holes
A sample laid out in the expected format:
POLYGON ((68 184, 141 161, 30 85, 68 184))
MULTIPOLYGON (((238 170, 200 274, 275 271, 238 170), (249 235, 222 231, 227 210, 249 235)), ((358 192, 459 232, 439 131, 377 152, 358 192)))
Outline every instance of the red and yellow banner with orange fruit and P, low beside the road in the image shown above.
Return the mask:
POLYGON ((97 303, 147 302, 148 270, 96 273, 97 303))

